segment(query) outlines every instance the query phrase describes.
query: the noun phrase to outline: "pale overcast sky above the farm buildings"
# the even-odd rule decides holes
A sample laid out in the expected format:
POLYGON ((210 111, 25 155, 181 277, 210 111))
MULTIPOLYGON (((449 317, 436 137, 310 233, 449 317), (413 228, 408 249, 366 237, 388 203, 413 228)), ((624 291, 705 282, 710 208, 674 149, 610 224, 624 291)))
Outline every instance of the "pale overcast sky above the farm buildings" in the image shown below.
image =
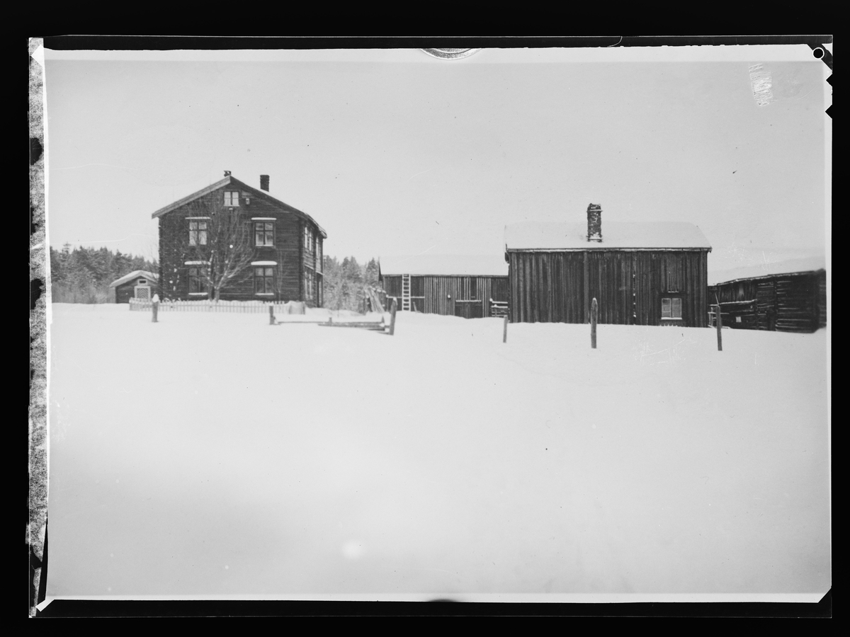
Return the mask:
POLYGON ((591 202, 603 232, 697 224, 715 270, 825 251, 831 88, 805 45, 46 58, 56 248, 156 256, 151 213, 229 170, 359 261, 501 254, 507 223, 591 202))

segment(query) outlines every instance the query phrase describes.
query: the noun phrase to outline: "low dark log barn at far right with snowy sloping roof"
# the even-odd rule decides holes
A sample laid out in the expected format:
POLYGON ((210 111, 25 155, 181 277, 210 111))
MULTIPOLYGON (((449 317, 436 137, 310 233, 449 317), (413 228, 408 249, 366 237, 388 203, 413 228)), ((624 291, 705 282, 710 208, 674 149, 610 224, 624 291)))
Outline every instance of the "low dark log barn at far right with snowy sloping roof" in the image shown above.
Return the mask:
POLYGON ((713 273, 710 282, 709 302, 720 303, 724 326, 779 332, 814 332, 826 327, 822 258, 713 273))

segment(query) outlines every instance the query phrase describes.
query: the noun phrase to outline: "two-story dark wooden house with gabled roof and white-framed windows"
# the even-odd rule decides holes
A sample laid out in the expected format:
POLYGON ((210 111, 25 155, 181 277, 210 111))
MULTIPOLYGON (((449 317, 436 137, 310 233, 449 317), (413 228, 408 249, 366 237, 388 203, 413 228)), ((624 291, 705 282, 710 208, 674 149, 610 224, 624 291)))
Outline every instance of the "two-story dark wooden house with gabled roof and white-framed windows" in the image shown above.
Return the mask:
POLYGON ((313 217, 271 196, 268 175, 260 175, 260 188, 255 189, 225 171, 221 181, 152 217, 159 222, 162 298, 211 298, 217 290, 211 290, 215 277, 210 268, 230 268, 233 275, 220 285, 218 298, 322 305, 322 243, 327 234, 313 217), (233 229, 218 223, 225 216, 234 220, 233 229), (217 245, 224 248, 218 248, 218 261, 217 245), (222 266, 220 255, 228 249, 229 262, 222 266))

